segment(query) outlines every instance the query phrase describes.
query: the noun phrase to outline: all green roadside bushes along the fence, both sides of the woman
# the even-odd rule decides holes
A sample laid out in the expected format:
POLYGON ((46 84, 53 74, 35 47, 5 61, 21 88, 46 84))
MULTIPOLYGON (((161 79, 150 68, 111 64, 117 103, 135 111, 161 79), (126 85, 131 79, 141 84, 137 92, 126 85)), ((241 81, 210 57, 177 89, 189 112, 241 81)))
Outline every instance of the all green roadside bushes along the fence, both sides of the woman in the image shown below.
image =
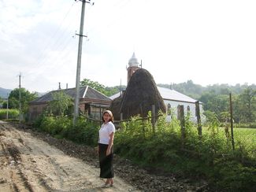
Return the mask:
MULTIPOLYGON (((173 172, 180 176, 193 176, 207 179, 214 190, 218 191, 253 191, 256 183, 256 151, 251 139, 255 130, 235 131, 235 136, 243 134, 246 139, 238 139, 236 150, 232 151, 231 140, 223 128, 217 127, 214 116, 203 129, 200 139, 197 128, 186 118, 186 138, 181 142, 180 123, 165 121, 165 116, 158 118, 157 128, 153 133, 150 120, 139 120, 135 116, 131 121, 121 124, 115 135, 115 153, 128 158, 141 166, 173 172)), ((35 125, 56 138, 69 138, 78 143, 96 146, 98 142, 98 123, 80 118, 75 127, 68 116, 42 115, 35 125)), ((244 129, 243 129, 244 130, 244 129)))

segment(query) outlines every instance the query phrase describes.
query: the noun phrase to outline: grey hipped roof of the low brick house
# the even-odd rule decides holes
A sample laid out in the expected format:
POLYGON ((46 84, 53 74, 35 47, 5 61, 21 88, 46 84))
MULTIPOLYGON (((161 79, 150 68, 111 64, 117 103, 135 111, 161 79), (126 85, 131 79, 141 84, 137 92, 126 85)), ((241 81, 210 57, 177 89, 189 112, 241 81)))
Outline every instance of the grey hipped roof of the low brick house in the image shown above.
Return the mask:
MULTIPOLYGON (((65 94, 68 94, 73 99, 76 96, 76 88, 53 90, 47 94, 44 94, 40 98, 36 98, 31 103, 50 102, 53 100, 53 94, 57 93, 58 91, 63 91, 65 94)), ((98 90, 95 90, 94 88, 89 87, 89 86, 80 87, 80 98, 93 98, 93 99, 111 101, 111 99, 108 98, 105 94, 102 94, 102 93, 98 92, 98 90)))

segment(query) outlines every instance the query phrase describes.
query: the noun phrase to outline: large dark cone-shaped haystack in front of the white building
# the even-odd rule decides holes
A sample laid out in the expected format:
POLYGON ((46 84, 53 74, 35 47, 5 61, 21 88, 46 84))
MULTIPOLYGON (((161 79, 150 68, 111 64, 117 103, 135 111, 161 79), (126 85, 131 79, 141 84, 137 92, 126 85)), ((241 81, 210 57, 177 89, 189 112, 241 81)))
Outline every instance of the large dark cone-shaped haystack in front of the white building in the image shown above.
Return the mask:
POLYGON ((153 76, 143 68, 139 68, 132 75, 121 100, 119 113, 123 113, 124 119, 138 114, 146 117, 147 113, 152 110, 152 105, 155 105, 156 114, 159 110, 164 113, 166 111, 153 76))

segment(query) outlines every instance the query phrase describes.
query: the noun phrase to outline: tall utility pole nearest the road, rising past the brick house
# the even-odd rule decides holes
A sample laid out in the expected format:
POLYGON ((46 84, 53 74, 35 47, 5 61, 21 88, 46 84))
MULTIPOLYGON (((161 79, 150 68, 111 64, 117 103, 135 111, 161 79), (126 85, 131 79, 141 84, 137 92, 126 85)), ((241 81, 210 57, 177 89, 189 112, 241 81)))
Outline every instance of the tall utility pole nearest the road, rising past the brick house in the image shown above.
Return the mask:
POLYGON ((73 124, 76 124, 76 118, 79 116, 79 100, 80 100, 80 71, 81 71, 81 57, 82 57, 82 46, 83 46, 83 20, 84 20, 84 9, 85 3, 91 3, 91 0, 80 0, 82 2, 82 11, 81 11, 81 20, 80 20, 80 34, 79 43, 78 43, 78 54, 77 54, 77 67, 76 67, 76 98, 75 98, 75 107, 74 107, 74 119, 73 124))

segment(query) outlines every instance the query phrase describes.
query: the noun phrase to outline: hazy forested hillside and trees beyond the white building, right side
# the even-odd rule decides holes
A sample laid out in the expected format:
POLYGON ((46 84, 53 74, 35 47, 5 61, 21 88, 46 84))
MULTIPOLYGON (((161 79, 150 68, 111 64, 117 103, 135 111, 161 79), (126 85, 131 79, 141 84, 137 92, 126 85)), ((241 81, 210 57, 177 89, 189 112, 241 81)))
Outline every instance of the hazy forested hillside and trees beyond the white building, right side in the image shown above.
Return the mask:
MULTIPOLYGON (((169 88, 168 84, 158 84, 160 87, 169 88)), ((174 83, 174 90, 198 99, 203 103, 204 111, 210 111, 217 115, 222 121, 222 113, 229 112, 229 94, 232 94, 233 120, 236 124, 255 127, 256 124, 256 85, 255 84, 214 84, 207 87, 193 83, 188 80, 185 83, 174 83)))

